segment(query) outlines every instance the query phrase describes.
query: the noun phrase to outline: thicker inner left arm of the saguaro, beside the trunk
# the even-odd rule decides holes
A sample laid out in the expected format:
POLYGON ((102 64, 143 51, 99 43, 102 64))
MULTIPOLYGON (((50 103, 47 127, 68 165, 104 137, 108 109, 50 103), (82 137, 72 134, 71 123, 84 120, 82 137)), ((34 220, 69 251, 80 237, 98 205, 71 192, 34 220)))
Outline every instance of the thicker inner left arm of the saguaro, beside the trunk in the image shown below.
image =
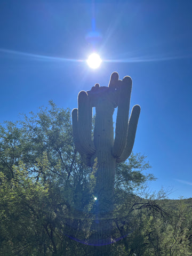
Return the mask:
POLYGON ((78 94, 78 138, 85 154, 93 155, 95 147, 91 139, 92 107, 85 91, 78 94))

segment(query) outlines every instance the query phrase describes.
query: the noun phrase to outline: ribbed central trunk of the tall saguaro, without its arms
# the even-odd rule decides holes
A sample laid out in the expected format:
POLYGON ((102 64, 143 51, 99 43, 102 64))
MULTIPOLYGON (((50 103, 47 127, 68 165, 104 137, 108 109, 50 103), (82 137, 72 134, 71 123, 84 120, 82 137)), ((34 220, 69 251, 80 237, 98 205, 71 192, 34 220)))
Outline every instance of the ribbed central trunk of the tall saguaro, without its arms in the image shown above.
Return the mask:
MULTIPOLYGON (((94 145, 96 148, 93 159, 97 159, 96 186, 94 195, 98 198, 95 208, 97 221, 94 223, 94 229, 97 232, 94 237, 94 243, 105 245, 106 250, 102 248, 103 255, 109 253, 111 243, 111 214, 113 211, 113 194, 115 182, 115 161, 111 155, 111 148, 114 143, 113 135, 113 111, 96 108, 96 118, 94 127, 94 145), (101 182, 102 181, 102 182, 101 182), (107 252, 106 252, 107 251, 107 252), (105 254, 104 254, 105 253, 105 254)), ((95 247, 95 252, 101 249, 95 247)))

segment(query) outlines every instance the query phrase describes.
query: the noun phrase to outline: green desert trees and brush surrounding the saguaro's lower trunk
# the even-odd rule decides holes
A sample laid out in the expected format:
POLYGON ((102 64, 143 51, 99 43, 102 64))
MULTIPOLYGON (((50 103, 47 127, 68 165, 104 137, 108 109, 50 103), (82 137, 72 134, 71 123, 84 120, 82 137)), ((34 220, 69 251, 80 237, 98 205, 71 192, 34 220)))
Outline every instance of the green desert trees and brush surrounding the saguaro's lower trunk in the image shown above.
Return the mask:
MULTIPOLYGON (((0 255, 93 255, 94 166, 75 150, 69 109, 50 101, 37 114, 4 122, 0 255)), ((116 167, 111 255, 191 255, 189 207, 151 199, 149 168, 141 154, 116 167)))

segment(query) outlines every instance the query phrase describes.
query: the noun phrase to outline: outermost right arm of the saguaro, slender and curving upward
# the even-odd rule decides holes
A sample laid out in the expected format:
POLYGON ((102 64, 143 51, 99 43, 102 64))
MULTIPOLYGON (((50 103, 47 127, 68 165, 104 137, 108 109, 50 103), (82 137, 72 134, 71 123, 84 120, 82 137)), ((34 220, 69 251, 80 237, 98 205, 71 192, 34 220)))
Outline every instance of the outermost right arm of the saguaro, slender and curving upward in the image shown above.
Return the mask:
POLYGON ((131 154, 131 151, 133 149, 135 134, 136 134, 136 130, 137 130, 140 110, 141 110, 140 106, 135 105, 131 111, 131 116, 130 116, 129 124, 128 124, 126 146, 125 146, 125 149, 124 149, 122 155, 116 159, 117 163, 124 162, 131 154))

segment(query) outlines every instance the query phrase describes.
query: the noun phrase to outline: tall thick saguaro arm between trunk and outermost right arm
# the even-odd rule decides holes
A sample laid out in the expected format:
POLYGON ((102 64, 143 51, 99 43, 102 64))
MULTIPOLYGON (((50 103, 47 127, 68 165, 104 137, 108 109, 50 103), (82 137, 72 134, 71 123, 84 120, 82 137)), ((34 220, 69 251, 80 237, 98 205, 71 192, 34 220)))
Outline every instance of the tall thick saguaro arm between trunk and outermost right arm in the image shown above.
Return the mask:
POLYGON ((119 83, 120 92, 115 128, 115 141, 112 149, 112 154, 116 158, 121 156, 126 145, 132 79, 131 77, 126 76, 123 78, 123 81, 118 82, 121 83, 119 83))

